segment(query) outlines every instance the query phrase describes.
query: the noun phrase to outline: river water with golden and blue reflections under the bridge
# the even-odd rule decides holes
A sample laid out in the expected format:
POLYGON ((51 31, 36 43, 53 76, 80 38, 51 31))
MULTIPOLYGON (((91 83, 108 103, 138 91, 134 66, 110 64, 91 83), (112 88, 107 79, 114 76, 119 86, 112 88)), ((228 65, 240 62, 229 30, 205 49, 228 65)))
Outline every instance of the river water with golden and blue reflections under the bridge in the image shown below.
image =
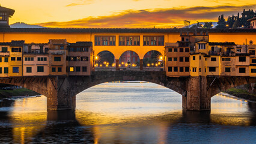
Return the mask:
POLYGON ((46 112, 44 96, 0 101, 0 143, 256 143, 256 104, 215 95, 210 112, 186 112, 163 86, 102 83, 75 112, 46 112))

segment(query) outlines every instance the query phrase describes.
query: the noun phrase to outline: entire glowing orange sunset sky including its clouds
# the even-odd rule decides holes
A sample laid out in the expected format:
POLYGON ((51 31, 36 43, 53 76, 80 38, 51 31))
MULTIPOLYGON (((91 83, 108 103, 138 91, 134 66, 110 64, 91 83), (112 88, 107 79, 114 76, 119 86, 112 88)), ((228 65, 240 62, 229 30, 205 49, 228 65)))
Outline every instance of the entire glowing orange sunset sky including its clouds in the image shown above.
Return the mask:
POLYGON ((252 0, 8 0, 3 7, 16 12, 11 23, 25 22, 53 28, 171 28, 217 21, 237 12, 256 10, 252 0))

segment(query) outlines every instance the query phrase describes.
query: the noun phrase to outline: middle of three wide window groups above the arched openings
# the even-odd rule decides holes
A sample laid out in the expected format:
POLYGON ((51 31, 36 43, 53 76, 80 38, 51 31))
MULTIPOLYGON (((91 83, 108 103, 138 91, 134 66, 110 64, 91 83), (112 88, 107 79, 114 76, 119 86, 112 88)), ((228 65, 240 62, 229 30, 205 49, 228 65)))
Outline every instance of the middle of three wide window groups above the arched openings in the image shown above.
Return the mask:
POLYGON ((119 36, 119 46, 139 46, 139 36, 119 36))

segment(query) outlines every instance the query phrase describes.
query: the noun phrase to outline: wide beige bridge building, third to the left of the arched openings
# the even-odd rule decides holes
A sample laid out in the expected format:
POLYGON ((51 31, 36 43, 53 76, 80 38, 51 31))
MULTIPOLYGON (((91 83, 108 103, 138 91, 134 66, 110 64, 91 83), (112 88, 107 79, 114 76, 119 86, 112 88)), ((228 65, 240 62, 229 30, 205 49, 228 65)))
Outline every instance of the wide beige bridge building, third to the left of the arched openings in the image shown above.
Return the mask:
POLYGON ((23 49, 23 76, 49 75, 49 44, 30 43, 23 49))

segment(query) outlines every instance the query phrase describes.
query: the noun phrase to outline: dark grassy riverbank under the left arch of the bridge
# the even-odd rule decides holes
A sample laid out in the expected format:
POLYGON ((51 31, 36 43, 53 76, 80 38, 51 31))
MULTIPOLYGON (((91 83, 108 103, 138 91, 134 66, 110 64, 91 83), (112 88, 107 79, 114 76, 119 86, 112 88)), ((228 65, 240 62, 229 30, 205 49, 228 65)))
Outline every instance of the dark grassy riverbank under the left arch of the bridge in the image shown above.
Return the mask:
POLYGON ((8 97, 18 97, 18 96, 32 96, 32 95, 40 95, 37 92, 31 91, 26 88, 14 89, 14 90, 2 90, 0 89, 0 99, 8 98, 8 97))

